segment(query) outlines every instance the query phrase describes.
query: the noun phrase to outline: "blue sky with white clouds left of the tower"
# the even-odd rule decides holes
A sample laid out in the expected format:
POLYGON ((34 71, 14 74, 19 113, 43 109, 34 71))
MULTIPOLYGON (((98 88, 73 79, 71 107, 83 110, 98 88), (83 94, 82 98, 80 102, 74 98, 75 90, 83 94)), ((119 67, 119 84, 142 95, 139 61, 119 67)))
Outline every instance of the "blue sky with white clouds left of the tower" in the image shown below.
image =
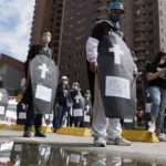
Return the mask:
POLYGON ((0 53, 27 59, 35 0, 0 0, 0 53))

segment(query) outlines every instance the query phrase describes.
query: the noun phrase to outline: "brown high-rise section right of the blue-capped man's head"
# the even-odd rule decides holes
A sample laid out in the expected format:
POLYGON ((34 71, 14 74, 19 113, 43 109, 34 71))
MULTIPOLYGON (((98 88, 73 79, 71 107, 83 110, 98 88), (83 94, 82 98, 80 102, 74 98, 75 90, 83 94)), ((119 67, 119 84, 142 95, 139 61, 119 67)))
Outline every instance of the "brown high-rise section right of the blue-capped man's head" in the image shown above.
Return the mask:
POLYGON ((122 28, 143 70, 146 60, 152 60, 159 50, 166 51, 166 1, 124 0, 124 6, 122 28))

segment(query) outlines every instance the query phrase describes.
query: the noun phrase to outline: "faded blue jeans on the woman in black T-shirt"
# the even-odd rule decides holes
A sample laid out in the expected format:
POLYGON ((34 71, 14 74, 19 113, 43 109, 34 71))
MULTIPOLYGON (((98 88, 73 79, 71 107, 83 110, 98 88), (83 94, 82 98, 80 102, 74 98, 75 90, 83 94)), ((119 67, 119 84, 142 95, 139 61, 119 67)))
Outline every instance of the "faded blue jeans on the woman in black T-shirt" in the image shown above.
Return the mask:
POLYGON ((151 86, 147 89, 147 93, 152 100, 151 115, 157 117, 156 127, 162 129, 166 108, 166 90, 151 86))

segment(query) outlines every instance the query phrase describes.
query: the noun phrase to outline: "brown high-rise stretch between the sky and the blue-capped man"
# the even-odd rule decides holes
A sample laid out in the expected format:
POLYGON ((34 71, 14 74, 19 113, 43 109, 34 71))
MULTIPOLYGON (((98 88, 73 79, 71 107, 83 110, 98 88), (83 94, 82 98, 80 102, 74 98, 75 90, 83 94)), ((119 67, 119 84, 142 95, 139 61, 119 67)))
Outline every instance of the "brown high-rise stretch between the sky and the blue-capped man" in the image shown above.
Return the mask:
POLYGON ((106 15, 108 0, 35 0, 31 44, 40 42, 42 30, 52 32, 51 46, 61 75, 89 89, 85 42, 97 20, 106 15))

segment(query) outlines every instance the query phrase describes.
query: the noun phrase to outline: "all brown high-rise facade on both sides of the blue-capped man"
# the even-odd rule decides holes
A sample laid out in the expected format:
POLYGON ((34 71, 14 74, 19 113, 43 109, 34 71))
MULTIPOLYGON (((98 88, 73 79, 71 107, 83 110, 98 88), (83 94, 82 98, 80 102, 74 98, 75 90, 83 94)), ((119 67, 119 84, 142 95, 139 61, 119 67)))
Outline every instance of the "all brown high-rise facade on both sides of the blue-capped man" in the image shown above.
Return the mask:
MULTIPOLYGON (((51 46, 59 59, 61 75, 87 89, 85 42, 97 20, 106 18, 110 0, 35 0, 31 43, 39 43, 41 31, 52 32, 51 46)), ((139 70, 159 50, 166 50, 166 1, 122 0, 125 14, 122 29, 137 56, 139 70)))

